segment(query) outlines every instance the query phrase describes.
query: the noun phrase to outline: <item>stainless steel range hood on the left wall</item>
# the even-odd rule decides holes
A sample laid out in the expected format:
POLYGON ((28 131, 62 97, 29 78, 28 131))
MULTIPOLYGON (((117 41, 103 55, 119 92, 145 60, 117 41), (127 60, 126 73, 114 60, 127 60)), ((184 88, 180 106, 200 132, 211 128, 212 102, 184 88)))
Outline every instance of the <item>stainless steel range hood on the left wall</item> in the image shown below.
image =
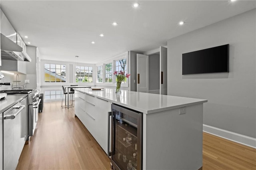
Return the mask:
POLYGON ((1 34, 1 56, 2 60, 29 61, 31 58, 22 51, 22 47, 1 34))

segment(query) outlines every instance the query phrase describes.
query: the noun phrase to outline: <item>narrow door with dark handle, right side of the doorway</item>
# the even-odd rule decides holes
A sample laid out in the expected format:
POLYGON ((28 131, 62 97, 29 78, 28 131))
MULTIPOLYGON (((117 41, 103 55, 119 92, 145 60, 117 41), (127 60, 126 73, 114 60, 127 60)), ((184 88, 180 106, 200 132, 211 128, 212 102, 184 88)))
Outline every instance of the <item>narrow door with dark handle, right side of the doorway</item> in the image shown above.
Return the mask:
POLYGON ((160 47, 160 95, 167 95, 167 48, 160 47))

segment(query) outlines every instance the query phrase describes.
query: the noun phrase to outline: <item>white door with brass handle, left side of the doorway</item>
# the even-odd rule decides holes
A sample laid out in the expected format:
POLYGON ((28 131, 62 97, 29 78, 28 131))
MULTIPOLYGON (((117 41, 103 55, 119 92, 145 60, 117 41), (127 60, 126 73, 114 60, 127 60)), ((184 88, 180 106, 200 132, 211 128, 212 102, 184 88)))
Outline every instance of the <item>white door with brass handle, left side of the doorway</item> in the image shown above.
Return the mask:
POLYGON ((137 54, 137 91, 148 93, 148 55, 137 54))

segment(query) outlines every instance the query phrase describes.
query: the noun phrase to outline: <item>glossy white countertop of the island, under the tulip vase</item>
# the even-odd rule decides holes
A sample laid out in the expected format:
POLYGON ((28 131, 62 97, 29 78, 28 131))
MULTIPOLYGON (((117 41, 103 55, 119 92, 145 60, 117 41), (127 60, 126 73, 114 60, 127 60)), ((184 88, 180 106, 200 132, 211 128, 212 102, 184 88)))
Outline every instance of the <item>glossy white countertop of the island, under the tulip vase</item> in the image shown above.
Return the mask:
POLYGON ((121 90, 121 93, 115 93, 116 89, 92 90, 88 88, 74 89, 82 93, 93 95, 100 99, 116 103, 118 105, 140 111, 145 114, 186 107, 205 103, 207 100, 194 99, 188 97, 177 97, 169 95, 158 95, 152 93, 142 93, 136 91, 121 90))

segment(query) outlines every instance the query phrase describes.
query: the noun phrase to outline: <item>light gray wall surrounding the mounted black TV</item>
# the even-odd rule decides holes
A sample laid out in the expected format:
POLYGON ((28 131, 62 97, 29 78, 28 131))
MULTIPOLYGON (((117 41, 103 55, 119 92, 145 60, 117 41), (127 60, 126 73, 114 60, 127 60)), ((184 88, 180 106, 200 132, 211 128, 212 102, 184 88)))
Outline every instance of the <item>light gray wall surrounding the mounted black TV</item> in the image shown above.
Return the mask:
POLYGON ((255 138, 255 56, 255 9, 172 38, 168 40, 168 95, 208 99, 205 125, 255 138), (229 73, 182 76, 182 53, 227 43, 229 73))

